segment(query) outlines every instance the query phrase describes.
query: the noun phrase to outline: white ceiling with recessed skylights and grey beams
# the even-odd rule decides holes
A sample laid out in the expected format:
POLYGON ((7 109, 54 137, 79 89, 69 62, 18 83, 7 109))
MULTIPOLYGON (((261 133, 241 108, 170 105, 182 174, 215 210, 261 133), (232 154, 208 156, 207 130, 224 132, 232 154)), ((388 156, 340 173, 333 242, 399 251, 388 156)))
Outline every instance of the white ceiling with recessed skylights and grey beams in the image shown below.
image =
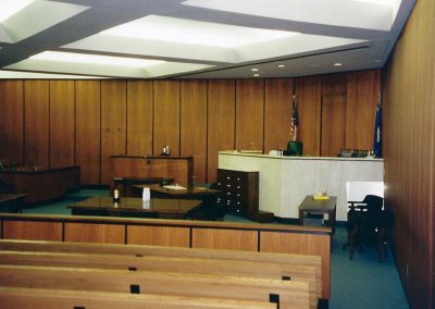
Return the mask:
MULTIPOLYGON (((25 1, 0 0, 0 18, 3 5, 25 1)), ((377 69, 414 3, 35 0, 0 22, 0 78, 295 77, 377 69)))

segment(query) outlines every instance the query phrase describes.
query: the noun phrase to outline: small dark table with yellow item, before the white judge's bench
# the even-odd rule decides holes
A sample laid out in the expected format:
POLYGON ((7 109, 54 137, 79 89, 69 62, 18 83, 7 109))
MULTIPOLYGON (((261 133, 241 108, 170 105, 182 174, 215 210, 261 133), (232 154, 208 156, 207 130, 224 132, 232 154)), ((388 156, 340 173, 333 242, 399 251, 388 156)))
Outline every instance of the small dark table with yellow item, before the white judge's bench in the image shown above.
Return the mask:
POLYGON ((335 233, 335 212, 337 206, 337 197, 330 196, 328 199, 314 199, 308 195, 299 206, 299 224, 303 225, 306 213, 327 213, 328 226, 335 233))

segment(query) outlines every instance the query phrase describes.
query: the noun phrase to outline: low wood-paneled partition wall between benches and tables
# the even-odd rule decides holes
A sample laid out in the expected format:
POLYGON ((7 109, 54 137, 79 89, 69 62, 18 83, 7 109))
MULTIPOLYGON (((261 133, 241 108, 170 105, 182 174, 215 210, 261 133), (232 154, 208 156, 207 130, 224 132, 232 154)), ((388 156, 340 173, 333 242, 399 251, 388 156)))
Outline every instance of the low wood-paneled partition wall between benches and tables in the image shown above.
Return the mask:
POLYGON ((331 228, 161 219, 0 214, 1 238, 175 246, 322 257, 331 297, 331 228))

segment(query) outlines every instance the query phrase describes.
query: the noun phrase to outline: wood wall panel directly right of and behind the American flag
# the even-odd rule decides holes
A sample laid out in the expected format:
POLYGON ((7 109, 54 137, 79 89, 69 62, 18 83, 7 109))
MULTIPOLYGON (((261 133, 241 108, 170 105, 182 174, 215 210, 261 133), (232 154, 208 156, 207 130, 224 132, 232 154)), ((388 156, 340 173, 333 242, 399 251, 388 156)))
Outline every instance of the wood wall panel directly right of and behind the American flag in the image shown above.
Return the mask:
POLYGON ((295 79, 296 106, 299 116, 299 140, 303 143, 302 154, 312 157, 321 153, 321 77, 295 79))

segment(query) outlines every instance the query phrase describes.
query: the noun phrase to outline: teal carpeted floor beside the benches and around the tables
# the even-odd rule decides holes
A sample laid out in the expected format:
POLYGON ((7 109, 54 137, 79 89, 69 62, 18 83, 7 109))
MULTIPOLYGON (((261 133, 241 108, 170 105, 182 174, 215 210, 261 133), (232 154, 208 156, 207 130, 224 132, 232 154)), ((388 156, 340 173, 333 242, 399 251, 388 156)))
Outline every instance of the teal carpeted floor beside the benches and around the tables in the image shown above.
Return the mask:
MULTIPOLYGON (((108 196, 108 190, 82 189, 65 196, 64 199, 37 208, 25 209, 24 213, 71 214, 66 207, 91 196, 108 196)), ((225 221, 249 222, 249 220, 226 215, 225 221)), ((408 309, 393 255, 384 262, 377 261, 372 247, 364 248, 349 260, 348 250, 343 249, 347 242, 346 228, 338 226, 333 237, 331 254, 331 309, 408 309)))

